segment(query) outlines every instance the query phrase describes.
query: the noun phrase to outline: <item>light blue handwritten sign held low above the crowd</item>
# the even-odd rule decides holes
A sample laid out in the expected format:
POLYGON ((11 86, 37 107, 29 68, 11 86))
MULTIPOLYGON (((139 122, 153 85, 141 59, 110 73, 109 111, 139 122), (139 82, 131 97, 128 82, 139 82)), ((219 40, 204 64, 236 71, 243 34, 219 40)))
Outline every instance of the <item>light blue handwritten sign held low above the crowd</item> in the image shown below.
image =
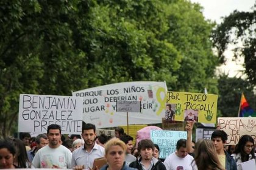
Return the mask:
POLYGON ((160 158, 166 158, 169 154, 176 151, 176 143, 181 138, 187 139, 185 131, 151 131, 151 140, 158 144, 160 158))

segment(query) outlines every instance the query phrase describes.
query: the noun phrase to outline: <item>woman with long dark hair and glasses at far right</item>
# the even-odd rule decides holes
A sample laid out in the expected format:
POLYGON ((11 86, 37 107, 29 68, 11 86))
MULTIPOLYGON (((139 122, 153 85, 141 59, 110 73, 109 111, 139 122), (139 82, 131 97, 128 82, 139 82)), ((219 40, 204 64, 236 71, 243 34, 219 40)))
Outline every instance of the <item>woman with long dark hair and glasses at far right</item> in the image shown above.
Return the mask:
POLYGON ((238 170, 242 169, 240 163, 255 159, 254 139, 250 135, 243 135, 236 144, 232 157, 236 161, 238 170))

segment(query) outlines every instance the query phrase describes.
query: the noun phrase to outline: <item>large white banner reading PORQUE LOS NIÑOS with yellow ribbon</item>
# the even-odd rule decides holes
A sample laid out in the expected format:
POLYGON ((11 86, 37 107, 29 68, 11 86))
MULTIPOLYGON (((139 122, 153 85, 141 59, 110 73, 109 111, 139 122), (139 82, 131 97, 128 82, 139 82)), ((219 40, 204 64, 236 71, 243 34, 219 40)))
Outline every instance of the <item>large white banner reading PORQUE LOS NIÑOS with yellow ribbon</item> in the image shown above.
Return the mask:
POLYGON ((116 112, 118 100, 141 101, 141 112, 129 115, 129 124, 161 123, 165 117, 165 82, 135 81, 73 92, 84 97, 83 120, 98 128, 126 125, 126 114, 116 112))

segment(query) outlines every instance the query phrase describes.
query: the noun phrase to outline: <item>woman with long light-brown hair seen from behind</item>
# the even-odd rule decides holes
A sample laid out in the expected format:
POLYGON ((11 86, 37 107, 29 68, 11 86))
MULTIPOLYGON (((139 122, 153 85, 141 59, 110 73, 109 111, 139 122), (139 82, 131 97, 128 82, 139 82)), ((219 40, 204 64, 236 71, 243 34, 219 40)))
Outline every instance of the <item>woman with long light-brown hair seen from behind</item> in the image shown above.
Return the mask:
POLYGON ((225 170, 217 156, 216 148, 211 140, 197 141, 194 151, 194 161, 198 170, 225 170))

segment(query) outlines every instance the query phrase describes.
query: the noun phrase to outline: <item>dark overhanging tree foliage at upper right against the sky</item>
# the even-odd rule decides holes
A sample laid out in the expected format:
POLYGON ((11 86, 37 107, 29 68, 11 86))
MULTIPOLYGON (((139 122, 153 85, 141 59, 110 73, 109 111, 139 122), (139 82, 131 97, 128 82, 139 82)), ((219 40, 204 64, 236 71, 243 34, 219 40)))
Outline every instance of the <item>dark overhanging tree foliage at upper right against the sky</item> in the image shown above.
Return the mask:
POLYGON ((256 10, 252 12, 234 11, 224 18, 224 21, 218 25, 213 32, 213 42, 218 49, 219 61, 226 61, 223 55, 227 46, 235 46, 234 57, 244 56, 245 73, 252 84, 256 84, 256 37, 255 22, 256 10), (236 46, 239 42, 243 46, 236 46))

